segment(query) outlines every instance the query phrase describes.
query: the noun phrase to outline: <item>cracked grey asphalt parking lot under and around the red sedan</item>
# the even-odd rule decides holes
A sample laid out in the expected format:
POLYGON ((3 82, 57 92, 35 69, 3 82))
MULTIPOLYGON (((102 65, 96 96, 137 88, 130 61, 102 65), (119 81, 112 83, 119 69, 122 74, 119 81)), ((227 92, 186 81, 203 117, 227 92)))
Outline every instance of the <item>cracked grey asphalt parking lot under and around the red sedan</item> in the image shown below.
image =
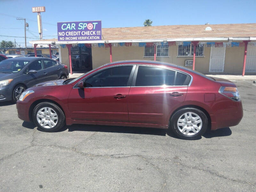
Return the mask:
POLYGON ((194 141, 138 127, 41 132, 0 103, 0 191, 256 191, 256 84, 235 83, 240 124, 194 141))

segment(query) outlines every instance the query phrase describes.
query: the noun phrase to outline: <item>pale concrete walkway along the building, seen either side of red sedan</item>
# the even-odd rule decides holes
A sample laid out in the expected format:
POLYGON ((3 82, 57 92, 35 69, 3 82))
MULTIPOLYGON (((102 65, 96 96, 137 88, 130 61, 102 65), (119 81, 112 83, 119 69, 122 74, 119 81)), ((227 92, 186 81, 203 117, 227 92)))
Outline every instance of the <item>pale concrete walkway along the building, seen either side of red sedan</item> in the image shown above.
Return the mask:
MULTIPOLYGON (((84 73, 73 73, 72 75, 69 74, 69 78, 76 78, 78 76, 83 75, 84 73)), ((207 76, 212 76, 218 77, 218 78, 223 78, 223 79, 228 79, 228 80, 253 80, 256 81, 256 75, 207 75, 207 76)))

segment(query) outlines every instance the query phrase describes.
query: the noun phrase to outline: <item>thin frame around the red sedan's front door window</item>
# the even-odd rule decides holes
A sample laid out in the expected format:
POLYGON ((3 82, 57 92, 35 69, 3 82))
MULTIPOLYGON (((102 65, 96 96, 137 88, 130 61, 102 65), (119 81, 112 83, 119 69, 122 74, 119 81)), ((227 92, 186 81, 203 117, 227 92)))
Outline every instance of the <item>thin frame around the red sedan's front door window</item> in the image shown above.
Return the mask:
MULTIPOLYGON (((130 84, 130 86, 121 86, 121 87, 131 87, 131 85, 132 85, 132 78, 133 78, 133 76, 134 76, 134 71, 135 71, 135 68, 136 68, 136 64, 114 65, 114 66, 109 66, 109 67, 106 67, 106 68, 102 68, 102 69, 100 69, 100 70, 94 71, 94 72, 93 72, 92 74, 90 74, 89 76, 84 77, 83 79, 81 79, 80 81, 78 81, 78 83, 81 82, 81 81, 84 81, 84 82, 85 82, 85 80, 86 80, 87 78, 89 78, 89 77, 92 76, 93 74, 95 74, 95 73, 97 73, 97 72, 100 72, 100 71, 102 71, 102 70, 104 70, 104 69, 113 68, 113 67, 121 67, 121 66, 131 66, 131 65, 132 65, 133 67, 132 67, 132 71, 131 71, 131 73, 130 73, 130 76, 129 76, 129 79, 128 79, 128 82, 127 82, 127 84, 130 84)), ((76 84, 73 86, 72 89, 80 89, 79 87, 77 87, 77 84, 78 84, 78 83, 76 83, 76 84)), ((84 87, 84 89, 89 89, 89 88, 117 88, 117 87, 84 87)))

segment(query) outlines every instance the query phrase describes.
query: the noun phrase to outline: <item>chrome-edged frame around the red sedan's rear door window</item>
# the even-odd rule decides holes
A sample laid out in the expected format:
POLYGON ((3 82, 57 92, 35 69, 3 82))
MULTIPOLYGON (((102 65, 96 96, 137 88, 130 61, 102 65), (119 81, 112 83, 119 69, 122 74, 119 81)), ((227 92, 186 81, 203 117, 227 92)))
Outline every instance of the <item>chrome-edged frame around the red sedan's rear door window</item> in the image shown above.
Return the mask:
POLYGON ((133 75, 133 78, 132 78, 132 84, 131 84, 131 87, 189 87, 191 84, 192 84, 192 81, 193 81, 193 76, 188 74, 188 73, 185 73, 183 71, 179 71, 179 70, 176 70, 176 69, 172 69, 172 68, 167 68, 165 66, 155 66, 155 65, 140 65, 140 64, 137 64, 136 65, 136 69, 135 69, 135 72, 134 72, 134 75, 133 75), (156 67, 156 68, 162 68, 162 69, 168 69, 168 70, 172 70, 172 71, 175 71, 175 72, 180 72, 180 73, 183 73, 185 75, 188 75, 191 77, 190 79, 190 82, 188 85, 154 85, 154 86, 135 86, 135 83, 136 83, 136 79, 137 79, 137 73, 138 73, 138 68, 139 66, 144 66, 144 67, 156 67))

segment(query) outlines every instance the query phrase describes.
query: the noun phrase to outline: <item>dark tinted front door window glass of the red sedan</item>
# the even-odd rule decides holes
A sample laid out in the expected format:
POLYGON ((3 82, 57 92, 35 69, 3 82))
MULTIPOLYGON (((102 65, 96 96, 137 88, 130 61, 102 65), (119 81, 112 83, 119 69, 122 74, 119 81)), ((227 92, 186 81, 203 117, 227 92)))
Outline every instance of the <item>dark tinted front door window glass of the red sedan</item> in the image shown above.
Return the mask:
POLYGON ((112 67, 88 77, 86 87, 126 87, 132 71, 132 65, 112 67))

